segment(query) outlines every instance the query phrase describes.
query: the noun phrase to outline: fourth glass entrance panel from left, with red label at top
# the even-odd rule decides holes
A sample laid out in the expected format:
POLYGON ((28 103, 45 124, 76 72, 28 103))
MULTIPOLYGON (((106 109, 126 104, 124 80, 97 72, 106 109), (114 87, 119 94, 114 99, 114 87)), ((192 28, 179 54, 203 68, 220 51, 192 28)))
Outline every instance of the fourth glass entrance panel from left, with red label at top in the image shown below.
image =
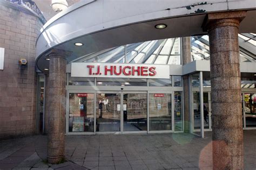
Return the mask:
POLYGON ((149 94, 149 130, 172 130, 172 95, 149 94))

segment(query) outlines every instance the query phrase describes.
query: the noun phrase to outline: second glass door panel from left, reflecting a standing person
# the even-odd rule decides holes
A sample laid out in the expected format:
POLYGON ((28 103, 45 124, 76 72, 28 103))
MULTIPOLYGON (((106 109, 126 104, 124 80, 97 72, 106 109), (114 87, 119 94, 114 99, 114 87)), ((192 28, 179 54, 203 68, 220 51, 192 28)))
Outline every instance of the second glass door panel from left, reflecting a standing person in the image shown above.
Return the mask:
POLYGON ((120 131, 120 94, 97 94, 96 131, 120 131))

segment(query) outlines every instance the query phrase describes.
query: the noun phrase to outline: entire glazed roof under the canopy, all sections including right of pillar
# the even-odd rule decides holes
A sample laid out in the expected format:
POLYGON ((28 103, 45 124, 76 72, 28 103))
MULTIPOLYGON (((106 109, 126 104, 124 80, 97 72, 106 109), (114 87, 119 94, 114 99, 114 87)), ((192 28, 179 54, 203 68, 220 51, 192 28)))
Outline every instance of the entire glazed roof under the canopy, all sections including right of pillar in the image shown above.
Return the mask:
MULTIPOLYGON (((256 34, 239 34, 241 62, 256 61, 256 34)), ((180 38, 138 42, 91 53, 71 62, 147 63, 181 65, 180 38)), ((191 58, 210 60, 208 36, 191 37, 191 58)))

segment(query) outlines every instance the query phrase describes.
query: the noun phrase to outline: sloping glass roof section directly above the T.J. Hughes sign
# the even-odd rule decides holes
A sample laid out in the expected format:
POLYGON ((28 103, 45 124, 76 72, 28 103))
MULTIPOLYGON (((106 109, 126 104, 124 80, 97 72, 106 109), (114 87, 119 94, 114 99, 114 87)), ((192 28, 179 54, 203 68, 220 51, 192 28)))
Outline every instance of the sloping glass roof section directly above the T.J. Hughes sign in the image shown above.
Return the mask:
POLYGON ((180 65, 180 38, 169 38, 128 44, 85 55, 71 62, 180 65))

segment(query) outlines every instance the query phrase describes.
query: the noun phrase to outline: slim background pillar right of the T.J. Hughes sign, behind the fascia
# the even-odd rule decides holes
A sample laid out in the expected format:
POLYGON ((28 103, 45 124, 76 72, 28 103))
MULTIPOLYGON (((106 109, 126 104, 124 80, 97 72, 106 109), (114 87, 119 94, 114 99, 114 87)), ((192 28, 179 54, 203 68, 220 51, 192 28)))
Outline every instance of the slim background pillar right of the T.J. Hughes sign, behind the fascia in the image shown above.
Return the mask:
MULTIPOLYGON (((182 41, 182 61, 183 65, 191 62, 191 46, 190 37, 181 38, 182 41)), ((183 75, 183 96, 184 96, 184 132, 190 132, 190 83, 189 75, 183 75)))

